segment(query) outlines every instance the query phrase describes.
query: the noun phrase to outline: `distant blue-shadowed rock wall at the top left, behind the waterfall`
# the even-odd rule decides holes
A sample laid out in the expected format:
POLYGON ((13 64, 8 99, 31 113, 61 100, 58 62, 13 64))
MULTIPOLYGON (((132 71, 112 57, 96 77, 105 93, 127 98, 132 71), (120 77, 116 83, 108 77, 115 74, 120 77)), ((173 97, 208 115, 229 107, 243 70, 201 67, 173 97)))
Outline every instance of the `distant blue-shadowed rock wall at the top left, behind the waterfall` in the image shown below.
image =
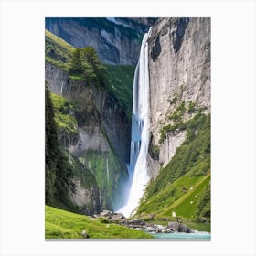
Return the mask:
POLYGON ((138 60, 141 38, 154 18, 46 18, 46 28, 75 48, 92 46, 109 64, 138 60))

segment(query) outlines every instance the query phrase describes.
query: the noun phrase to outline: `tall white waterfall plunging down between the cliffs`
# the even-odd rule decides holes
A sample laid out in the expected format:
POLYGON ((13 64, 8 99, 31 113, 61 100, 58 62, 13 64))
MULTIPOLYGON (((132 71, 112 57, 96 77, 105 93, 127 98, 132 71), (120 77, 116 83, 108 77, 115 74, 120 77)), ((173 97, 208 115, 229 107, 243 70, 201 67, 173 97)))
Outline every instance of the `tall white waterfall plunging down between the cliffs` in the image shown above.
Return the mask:
POLYGON ((149 181, 146 155, 149 144, 149 78, 148 78, 148 43, 151 28, 144 35, 140 59, 133 79, 133 116, 132 142, 129 174, 132 178, 130 195, 127 204, 118 210, 129 217, 143 197, 144 189, 149 181))

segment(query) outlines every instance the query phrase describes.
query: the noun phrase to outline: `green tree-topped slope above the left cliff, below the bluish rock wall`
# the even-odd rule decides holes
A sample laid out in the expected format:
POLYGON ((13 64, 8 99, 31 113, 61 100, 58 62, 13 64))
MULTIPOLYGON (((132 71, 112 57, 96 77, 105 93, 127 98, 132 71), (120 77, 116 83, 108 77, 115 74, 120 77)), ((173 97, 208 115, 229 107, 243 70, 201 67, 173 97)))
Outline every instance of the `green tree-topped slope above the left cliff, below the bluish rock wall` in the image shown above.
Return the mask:
POLYGON ((103 65, 94 48, 73 48, 48 30, 45 35, 45 58, 48 62, 67 71, 70 80, 83 80, 100 86, 112 95, 131 120, 135 70, 132 65, 103 65))

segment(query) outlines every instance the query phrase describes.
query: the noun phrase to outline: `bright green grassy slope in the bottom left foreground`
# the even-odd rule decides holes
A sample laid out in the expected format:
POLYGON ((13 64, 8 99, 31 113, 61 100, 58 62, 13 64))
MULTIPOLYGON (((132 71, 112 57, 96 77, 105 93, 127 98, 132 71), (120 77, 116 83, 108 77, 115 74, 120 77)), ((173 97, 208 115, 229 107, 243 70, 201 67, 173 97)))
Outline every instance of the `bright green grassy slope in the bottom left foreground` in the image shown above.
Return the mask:
POLYGON ((66 210, 45 208, 46 239, 82 239, 85 230, 90 239, 150 239, 151 235, 118 224, 101 223, 90 217, 75 214, 66 210))

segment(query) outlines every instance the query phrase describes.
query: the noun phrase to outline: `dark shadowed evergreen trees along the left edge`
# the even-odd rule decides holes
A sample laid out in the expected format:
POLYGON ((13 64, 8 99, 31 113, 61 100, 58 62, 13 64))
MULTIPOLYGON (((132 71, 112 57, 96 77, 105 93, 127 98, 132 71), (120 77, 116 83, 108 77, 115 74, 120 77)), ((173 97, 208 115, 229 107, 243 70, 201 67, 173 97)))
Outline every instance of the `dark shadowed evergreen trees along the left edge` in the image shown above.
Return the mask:
POLYGON ((69 197, 69 190, 74 190, 72 182, 73 172, 69 159, 61 149, 58 140, 58 128, 55 123, 55 114, 46 86, 46 173, 45 191, 46 204, 73 209, 69 197))

